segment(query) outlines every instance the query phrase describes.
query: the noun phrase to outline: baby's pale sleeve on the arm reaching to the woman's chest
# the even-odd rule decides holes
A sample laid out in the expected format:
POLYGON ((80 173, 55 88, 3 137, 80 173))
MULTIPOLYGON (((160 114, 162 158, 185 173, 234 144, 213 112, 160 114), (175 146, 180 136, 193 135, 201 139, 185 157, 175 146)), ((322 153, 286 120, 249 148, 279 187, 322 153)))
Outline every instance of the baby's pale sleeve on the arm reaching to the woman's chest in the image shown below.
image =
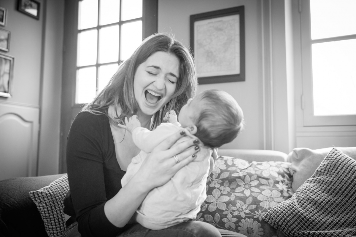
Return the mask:
POLYGON ((150 153, 159 143, 180 129, 180 127, 171 123, 161 123, 152 131, 138 127, 132 131, 132 140, 142 151, 150 153))

